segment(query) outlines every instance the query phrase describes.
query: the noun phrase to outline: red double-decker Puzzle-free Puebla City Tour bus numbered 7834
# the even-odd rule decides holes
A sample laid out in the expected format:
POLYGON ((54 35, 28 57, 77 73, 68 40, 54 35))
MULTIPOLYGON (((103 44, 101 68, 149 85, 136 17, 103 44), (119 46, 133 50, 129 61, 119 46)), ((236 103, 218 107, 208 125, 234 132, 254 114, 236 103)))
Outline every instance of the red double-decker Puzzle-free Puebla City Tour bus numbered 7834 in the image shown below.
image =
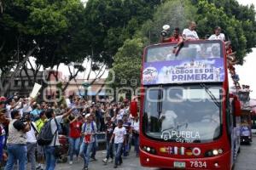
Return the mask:
POLYGON ((141 165, 230 170, 240 147, 241 110, 229 94, 224 42, 184 42, 173 54, 175 46, 144 49, 141 165))

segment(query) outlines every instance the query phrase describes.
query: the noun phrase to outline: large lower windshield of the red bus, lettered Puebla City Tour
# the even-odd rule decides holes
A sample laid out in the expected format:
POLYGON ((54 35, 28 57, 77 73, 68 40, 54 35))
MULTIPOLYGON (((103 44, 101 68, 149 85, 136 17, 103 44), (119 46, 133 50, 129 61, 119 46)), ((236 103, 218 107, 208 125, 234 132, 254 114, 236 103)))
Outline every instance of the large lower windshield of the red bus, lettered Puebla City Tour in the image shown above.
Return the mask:
POLYGON ((188 85, 146 88, 143 133, 151 139, 207 143, 221 135, 220 86, 188 85))

